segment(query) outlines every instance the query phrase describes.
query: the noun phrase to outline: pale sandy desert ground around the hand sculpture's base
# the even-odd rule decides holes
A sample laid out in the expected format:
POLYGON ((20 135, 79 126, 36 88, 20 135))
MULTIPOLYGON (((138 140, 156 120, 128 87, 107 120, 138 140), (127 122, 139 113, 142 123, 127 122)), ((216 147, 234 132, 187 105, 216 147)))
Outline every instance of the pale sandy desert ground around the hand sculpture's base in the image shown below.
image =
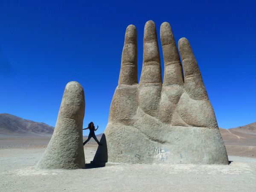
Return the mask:
MULTIPOLYGON (((230 165, 107 164, 77 170, 36 170, 49 139, 0 137, 1 192, 256 191, 254 143, 225 142, 230 165)), ((96 148, 93 141, 84 146, 86 163, 93 160, 96 148)))

